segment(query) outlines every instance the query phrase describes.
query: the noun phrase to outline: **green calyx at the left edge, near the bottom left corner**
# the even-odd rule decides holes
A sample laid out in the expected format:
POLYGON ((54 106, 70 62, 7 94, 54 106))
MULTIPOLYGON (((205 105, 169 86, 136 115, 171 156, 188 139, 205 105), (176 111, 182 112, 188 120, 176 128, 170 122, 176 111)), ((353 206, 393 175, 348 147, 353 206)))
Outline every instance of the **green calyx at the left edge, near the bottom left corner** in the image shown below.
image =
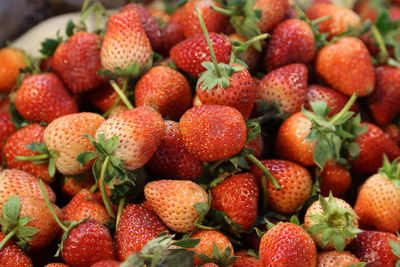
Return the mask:
POLYGON ((0 242, 0 250, 4 247, 8 240, 16 237, 17 244, 26 249, 28 242, 32 241, 32 236, 38 232, 38 229, 26 226, 34 218, 28 216, 19 216, 21 210, 21 201, 18 195, 10 197, 3 206, 3 216, 0 217, 0 225, 4 239, 0 242))

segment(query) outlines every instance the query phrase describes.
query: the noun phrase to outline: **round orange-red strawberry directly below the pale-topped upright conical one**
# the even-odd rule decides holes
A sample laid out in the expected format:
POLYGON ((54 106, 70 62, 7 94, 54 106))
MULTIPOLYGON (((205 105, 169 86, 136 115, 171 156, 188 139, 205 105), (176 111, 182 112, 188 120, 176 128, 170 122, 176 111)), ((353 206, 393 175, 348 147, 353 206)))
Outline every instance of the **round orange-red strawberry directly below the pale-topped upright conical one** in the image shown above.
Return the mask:
POLYGON ((135 106, 150 106, 163 117, 178 120, 190 107, 190 85, 180 72, 156 66, 143 74, 135 87, 135 106))

